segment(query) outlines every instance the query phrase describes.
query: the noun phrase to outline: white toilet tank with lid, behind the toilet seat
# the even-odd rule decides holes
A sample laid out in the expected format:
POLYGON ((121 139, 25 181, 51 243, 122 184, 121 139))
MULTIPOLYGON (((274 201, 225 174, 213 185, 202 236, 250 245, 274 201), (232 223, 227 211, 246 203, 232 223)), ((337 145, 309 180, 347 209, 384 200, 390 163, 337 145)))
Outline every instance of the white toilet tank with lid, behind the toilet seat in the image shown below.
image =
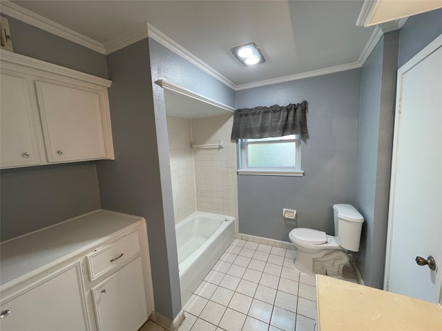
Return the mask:
POLYGON ((334 235, 340 247, 358 252, 364 218, 352 205, 339 203, 333 206, 334 235))

